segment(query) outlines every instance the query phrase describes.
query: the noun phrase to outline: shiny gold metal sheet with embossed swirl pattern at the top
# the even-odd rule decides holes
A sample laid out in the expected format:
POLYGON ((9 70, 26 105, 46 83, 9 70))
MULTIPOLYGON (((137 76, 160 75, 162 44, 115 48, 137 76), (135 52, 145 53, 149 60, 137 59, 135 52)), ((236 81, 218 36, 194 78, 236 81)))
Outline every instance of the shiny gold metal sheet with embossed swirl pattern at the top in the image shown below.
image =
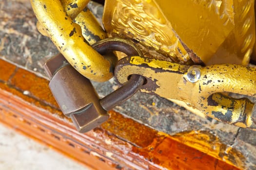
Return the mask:
POLYGON ((181 64, 247 65, 255 42, 254 0, 106 0, 103 24, 181 64))

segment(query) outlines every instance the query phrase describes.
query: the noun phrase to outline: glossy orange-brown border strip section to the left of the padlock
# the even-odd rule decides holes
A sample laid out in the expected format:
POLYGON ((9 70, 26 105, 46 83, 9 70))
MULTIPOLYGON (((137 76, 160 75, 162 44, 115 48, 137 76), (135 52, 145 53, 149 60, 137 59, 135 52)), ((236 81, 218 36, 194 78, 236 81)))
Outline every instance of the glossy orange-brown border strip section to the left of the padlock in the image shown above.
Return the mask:
POLYGON ((0 88, 21 99, 67 119, 59 110, 48 81, 0 59, 0 88), (24 91, 29 94, 24 95, 24 91))

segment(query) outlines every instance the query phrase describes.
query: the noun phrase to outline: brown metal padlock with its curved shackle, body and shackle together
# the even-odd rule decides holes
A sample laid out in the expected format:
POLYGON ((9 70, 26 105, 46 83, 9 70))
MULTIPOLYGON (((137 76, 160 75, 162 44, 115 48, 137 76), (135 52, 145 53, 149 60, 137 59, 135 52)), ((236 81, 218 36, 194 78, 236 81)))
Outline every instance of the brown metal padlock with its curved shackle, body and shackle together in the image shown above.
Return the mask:
MULTIPOLYGON (((94 48, 100 54, 121 51, 143 56, 133 42, 118 38, 101 40, 94 48)), ((62 54, 48 60, 44 69, 51 78, 49 87, 61 111, 72 119, 80 133, 88 132, 106 121, 109 118, 107 111, 133 96, 145 82, 143 76, 131 75, 125 85, 99 99, 90 80, 73 68, 62 54)))

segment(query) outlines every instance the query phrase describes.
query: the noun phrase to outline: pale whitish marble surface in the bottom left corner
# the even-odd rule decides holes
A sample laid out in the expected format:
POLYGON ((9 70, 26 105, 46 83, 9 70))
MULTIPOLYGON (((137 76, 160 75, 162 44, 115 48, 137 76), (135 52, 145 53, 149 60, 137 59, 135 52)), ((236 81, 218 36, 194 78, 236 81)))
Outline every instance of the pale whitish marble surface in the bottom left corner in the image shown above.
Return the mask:
POLYGON ((0 170, 88 170, 51 147, 0 124, 0 170))

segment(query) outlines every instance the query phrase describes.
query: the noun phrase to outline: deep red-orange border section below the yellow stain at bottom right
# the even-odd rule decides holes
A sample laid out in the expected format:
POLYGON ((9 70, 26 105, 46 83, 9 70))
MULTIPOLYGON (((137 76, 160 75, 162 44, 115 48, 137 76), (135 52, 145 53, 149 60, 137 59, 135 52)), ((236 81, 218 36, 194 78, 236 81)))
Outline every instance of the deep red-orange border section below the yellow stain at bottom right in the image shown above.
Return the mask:
POLYGON ((211 155, 179 143, 171 136, 158 136, 146 148, 134 147, 133 152, 170 170, 239 170, 211 155))

